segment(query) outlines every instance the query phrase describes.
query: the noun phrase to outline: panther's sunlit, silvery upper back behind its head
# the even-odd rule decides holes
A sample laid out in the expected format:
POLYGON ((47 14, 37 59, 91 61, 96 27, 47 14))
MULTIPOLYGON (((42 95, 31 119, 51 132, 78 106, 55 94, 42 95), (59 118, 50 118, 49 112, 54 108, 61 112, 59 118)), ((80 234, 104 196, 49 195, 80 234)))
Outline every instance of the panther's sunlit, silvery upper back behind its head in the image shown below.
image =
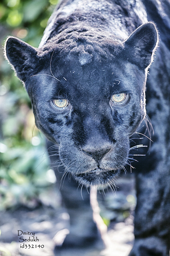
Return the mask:
POLYGON ((64 0, 53 12, 39 48, 51 41, 74 40, 76 35, 115 38, 120 43, 145 22, 140 0, 64 0))

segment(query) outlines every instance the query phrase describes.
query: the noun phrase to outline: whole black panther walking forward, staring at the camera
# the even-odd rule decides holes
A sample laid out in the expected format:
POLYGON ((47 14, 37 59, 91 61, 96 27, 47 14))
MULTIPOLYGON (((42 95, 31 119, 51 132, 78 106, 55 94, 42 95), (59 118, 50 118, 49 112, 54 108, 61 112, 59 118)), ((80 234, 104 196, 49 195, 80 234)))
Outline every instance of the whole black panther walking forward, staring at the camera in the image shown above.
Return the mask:
POLYGON ((15 37, 5 43, 36 125, 53 142, 71 225, 78 220, 73 209, 84 214, 84 233, 70 231, 63 247, 95 239, 86 187, 114 189, 116 177, 132 171, 137 206, 129 255, 169 256, 169 17, 168 0, 63 0, 38 48, 15 37))

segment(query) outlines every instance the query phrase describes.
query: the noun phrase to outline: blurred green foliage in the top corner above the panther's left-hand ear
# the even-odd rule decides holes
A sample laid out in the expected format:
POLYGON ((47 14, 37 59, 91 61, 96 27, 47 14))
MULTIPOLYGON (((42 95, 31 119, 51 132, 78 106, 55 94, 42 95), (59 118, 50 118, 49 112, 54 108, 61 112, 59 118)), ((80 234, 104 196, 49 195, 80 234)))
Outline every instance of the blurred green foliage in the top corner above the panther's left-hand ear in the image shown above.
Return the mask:
POLYGON ((58 0, 2 0, 0 22, 11 34, 37 47, 58 0))

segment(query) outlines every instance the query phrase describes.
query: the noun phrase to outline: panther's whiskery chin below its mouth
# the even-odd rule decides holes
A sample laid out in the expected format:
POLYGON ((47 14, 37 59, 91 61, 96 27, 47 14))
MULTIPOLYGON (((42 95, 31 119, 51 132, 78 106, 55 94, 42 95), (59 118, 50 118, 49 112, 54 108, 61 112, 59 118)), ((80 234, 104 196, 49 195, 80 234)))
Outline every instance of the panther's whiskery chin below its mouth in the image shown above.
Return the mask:
POLYGON ((118 170, 106 170, 97 168, 90 172, 76 174, 75 180, 86 187, 95 186, 105 188, 113 184, 114 179, 118 176, 118 170))

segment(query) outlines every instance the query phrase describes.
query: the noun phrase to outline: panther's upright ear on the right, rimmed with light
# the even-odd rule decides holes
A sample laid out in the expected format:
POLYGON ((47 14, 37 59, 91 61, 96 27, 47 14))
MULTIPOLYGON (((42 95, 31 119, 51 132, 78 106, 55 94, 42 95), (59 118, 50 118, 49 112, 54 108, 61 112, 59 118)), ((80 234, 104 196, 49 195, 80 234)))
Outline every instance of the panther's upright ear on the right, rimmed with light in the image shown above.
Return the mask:
POLYGON ((138 27, 124 42, 124 53, 128 61, 142 69, 153 61, 158 46, 158 31, 152 22, 138 27))

